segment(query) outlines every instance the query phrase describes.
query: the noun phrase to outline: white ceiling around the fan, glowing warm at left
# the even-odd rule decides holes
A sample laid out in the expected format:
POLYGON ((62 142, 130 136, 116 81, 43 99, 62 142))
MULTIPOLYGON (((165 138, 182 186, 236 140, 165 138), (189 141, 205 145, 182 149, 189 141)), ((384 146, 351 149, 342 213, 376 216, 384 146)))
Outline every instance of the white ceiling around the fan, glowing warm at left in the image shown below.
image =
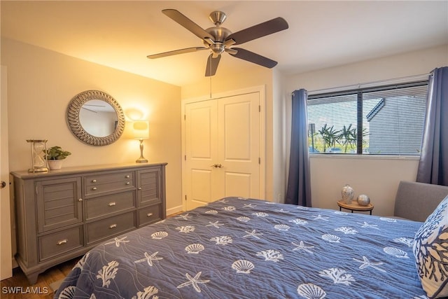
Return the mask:
MULTIPOLYGON (((237 32, 276 17, 289 29, 240 45, 276 60, 285 74, 448 44, 448 1, 1 1, 1 36, 174 85, 201 81, 209 53, 146 55, 202 46, 161 11, 202 28, 211 11, 237 32)), ((223 54, 217 74, 251 62, 223 54)))

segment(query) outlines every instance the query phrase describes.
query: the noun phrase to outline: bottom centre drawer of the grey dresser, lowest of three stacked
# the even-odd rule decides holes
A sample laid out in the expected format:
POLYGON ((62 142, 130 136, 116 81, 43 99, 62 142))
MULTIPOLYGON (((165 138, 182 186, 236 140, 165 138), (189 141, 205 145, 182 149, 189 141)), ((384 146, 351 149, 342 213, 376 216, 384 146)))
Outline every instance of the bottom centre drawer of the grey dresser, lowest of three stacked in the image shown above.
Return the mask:
POLYGON ((137 228, 134 211, 87 224, 87 244, 137 228))

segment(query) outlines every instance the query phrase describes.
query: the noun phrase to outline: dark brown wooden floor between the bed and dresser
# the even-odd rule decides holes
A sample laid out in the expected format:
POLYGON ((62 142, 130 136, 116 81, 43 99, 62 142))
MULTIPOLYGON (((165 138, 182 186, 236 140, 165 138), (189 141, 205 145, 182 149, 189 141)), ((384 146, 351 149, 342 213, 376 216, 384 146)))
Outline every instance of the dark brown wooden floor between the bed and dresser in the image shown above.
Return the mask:
MULTIPOLYGON (((179 212, 168 217, 182 214, 179 212)), ((67 274, 78 263, 82 256, 66 261, 65 263, 51 267, 45 272, 39 274, 36 284, 29 284, 27 277, 23 274, 20 267, 13 269, 13 277, 3 279, 0 282, 1 299, 50 299, 53 298, 54 291, 50 284, 60 279, 64 279, 67 274), (28 292, 28 293, 27 293, 28 292), (30 293, 34 292, 34 293, 30 293)))

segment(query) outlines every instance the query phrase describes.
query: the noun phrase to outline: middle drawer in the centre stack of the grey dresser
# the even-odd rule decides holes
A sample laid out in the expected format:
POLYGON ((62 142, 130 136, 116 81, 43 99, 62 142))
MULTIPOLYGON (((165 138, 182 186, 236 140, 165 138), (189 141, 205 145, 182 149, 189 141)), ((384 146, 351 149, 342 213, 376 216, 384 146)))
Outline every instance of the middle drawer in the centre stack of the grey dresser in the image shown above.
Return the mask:
POLYGON ((95 217, 132 209, 135 207, 135 197, 135 190, 130 190, 89 198, 85 200, 86 218, 90 220, 95 217))

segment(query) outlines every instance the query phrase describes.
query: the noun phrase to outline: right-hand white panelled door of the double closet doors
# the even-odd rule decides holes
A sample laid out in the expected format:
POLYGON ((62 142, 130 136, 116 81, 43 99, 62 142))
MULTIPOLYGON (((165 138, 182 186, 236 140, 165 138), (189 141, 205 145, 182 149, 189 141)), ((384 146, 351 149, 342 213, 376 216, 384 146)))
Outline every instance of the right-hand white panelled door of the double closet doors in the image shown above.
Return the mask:
POLYGON ((218 196, 260 198, 259 95, 218 100, 218 196))

